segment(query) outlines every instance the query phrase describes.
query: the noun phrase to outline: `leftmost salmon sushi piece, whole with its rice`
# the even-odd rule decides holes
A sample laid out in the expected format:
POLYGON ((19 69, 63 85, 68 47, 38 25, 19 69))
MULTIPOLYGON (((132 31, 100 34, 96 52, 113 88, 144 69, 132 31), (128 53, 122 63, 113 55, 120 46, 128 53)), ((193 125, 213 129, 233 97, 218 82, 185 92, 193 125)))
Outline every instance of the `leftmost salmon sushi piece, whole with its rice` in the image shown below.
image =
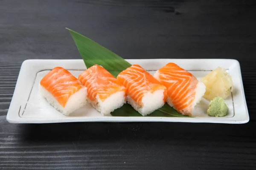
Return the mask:
POLYGON ((50 105, 66 116, 87 102, 87 89, 62 67, 55 67, 49 71, 41 79, 39 90, 50 105))

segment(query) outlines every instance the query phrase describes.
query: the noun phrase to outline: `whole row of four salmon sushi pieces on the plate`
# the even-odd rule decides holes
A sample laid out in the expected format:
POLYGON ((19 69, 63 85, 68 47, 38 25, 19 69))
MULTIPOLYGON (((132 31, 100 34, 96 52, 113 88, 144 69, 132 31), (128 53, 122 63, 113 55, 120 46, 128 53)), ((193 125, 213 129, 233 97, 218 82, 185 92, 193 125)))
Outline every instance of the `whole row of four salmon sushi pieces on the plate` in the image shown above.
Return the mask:
POLYGON ((191 116, 205 89, 202 82, 175 63, 166 64, 154 76, 140 65, 132 65, 116 78, 99 65, 83 71, 78 78, 56 67, 40 82, 42 96, 67 116, 86 102, 103 116, 126 102, 143 116, 166 102, 179 113, 191 116))

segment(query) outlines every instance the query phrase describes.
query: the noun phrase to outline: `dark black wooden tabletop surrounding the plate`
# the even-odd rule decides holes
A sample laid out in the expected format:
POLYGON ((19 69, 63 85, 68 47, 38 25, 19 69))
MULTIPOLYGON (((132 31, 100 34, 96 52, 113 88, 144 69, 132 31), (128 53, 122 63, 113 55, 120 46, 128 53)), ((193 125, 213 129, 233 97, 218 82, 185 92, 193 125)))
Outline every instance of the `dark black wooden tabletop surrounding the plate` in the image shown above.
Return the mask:
POLYGON ((0 0, 0 169, 256 170, 255 65, 256 0, 0 0), (239 60, 250 122, 9 124, 25 59, 81 58, 65 27, 126 59, 239 60))

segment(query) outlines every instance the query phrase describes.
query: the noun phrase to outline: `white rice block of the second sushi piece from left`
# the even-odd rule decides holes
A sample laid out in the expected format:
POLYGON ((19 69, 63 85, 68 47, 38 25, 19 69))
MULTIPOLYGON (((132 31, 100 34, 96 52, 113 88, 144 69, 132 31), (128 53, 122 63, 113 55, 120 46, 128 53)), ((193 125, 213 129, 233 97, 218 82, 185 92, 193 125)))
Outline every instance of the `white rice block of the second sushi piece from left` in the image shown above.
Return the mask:
POLYGON ((121 108, 126 103, 126 97, 124 91, 119 91, 111 94, 107 99, 102 101, 98 94, 95 101, 88 99, 90 104, 99 111, 102 116, 108 115, 114 110, 121 108))

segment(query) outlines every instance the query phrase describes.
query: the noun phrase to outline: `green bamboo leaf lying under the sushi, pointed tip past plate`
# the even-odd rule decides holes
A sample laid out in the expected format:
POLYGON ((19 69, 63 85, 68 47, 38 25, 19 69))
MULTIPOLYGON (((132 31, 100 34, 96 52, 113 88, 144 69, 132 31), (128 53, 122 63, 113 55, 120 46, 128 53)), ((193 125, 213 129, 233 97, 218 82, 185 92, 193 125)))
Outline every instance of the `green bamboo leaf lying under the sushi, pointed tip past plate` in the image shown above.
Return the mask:
MULTIPOLYGON (((73 37, 73 40, 76 43, 76 47, 79 50, 79 53, 84 60, 84 64, 87 68, 97 64, 104 67, 108 70, 114 77, 125 70, 126 68, 130 67, 131 64, 127 62, 122 57, 118 56, 117 54, 113 53, 112 51, 108 50, 107 48, 99 45, 97 42, 90 40, 89 38, 85 37, 67 28, 70 31, 70 34, 73 37)), ((139 112, 135 111, 134 108, 131 107, 129 104, 123 105, 121 108, 116 109, 111 113, 112 116, 142 116, 139 112)), ((165 104, 162 108, 154 111, 150 115, 150 117, 189 117, 183 116, 182 114, 178 113, 174 108, 165 104)))

